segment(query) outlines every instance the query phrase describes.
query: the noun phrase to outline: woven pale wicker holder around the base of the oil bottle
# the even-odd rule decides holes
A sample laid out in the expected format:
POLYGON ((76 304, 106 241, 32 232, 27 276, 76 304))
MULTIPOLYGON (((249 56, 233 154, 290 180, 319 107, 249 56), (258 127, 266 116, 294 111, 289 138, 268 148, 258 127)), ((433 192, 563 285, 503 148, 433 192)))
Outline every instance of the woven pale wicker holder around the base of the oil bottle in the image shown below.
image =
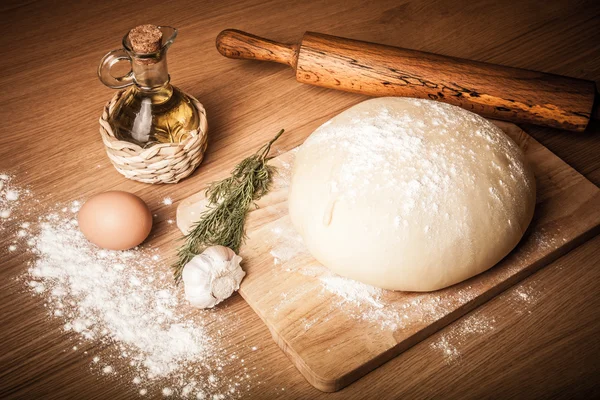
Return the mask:
POLYGON ((108 158, 123 176, 144 183, 177 183, 189 176, 202 162, 207 145, 208 122, 202 104, 190 96, 198 114, 198 129, 181 143, 160 143, 147 149, 118 140, 108 123, 108 116, 121 98, 119 91, 104 107, 100 117, 100 135, 108 158))

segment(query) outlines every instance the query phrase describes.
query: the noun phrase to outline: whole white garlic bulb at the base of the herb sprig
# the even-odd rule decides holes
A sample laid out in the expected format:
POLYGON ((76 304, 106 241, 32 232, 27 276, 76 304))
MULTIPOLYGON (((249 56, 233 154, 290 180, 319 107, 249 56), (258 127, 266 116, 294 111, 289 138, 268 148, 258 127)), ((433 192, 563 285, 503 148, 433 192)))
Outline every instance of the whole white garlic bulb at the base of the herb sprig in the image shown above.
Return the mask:
POLYGON ((211 246, 183 268, 185 298, 197 308, 212 308, 240 288, 246 275, 242 257, 224 246, 211 246))

